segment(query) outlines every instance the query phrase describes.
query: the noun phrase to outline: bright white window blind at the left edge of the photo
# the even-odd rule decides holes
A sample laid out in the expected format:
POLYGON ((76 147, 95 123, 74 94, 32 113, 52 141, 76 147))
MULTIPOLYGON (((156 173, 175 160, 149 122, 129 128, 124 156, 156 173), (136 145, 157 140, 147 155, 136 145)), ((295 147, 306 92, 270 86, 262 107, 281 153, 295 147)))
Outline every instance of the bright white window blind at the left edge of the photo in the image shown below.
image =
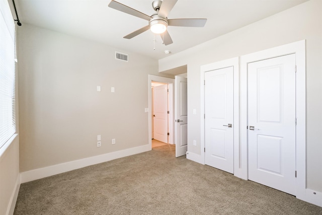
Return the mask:
POLYGON ((15 22, 8 1, 0 1, 0 148, 16 132, 15 22))

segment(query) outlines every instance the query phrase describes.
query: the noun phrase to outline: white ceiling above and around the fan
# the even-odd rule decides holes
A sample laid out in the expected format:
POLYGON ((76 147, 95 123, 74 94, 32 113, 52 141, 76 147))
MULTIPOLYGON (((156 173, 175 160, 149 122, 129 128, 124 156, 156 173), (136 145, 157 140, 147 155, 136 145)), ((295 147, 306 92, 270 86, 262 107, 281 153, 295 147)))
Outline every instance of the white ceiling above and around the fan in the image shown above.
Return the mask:
MULTIPOLYGON (((8 0, 11 2, 12 0, 8 0)), ((123 36, 148 25, 148 21, 108 7, 110 0, 15 0, 21 23, 87 38, 154 59, 167 57, 240 27, 306 2, 307 0, 178 0, 169 19, 206 18, 203 28, 169 26, 173 44, 163 45, 149 30, 132 38, 123 36)), ((152 15, 152 0, 118 0, 152 15)), ((14 15, 15 18, 15 15, 14 15)))

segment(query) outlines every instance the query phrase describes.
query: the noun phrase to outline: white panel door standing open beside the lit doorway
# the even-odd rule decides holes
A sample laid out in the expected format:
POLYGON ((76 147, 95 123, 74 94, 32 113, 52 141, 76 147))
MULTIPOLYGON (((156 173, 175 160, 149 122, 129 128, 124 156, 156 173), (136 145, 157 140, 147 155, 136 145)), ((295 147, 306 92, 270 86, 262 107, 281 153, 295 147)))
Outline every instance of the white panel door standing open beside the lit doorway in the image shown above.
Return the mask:
POLYGON ((176 76, 175 136, 176 157, 186 155, 188 144, 187 78, 176 76))

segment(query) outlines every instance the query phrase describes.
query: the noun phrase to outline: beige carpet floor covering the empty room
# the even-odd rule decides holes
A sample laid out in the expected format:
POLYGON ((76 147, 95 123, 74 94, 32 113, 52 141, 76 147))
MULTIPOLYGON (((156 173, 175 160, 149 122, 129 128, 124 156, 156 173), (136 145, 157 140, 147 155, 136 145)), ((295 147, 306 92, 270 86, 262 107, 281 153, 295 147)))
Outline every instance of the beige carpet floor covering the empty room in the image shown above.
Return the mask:
POLYGON ((14 214, 322 214, 322 207, 187 160, 166 145, 24 183, 14 214))

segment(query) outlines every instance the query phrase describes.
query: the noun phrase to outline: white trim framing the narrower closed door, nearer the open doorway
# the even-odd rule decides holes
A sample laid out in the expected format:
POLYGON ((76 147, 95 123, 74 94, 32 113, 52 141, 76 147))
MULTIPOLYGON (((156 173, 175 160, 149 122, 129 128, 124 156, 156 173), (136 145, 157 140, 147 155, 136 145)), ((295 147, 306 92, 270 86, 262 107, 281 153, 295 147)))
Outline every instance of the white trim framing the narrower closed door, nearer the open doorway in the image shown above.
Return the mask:
MULTIPOLYGON (((200 67, 200 75, 201 75, 201 102, 200 102, 200 112, 201 112, 201 159, 203 160, 202 164, 205 164, 205 88, 204 88, 204 80, 205 80, 205 73, 207 71, 226 68, 233 66, 233 145, 234 145, 234 175, 239 174, 239 59, 238 57, 233 57, 230 59, 202 65, 200 67)), ((187 156, 188 158, 188 156, 187 156)), ((200 162, 198 162, 200 163, 200 162)), ((238 176, 237 176, 238 177, 238 176)))

